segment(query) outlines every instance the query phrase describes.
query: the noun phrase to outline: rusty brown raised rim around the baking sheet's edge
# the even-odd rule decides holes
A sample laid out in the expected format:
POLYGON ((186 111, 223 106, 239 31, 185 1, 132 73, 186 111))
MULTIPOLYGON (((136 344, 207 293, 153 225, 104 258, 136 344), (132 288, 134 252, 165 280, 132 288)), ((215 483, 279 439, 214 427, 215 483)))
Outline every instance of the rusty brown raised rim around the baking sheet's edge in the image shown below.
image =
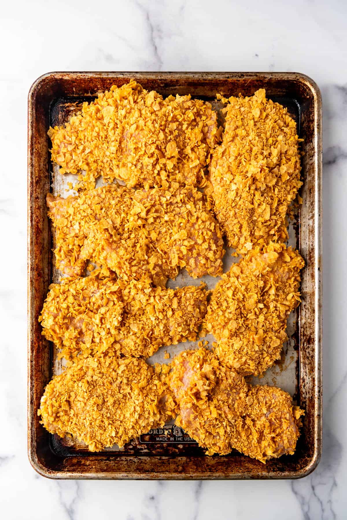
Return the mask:
MULTIPOLYGON (((301 137, 301 135, 300 135, 301 137)), ((52 72, 39 77, 28 98, 28 454, 34 469, 50 478, 82 479, 268 479, 311 473, 322 453, 322 99, 313 80, 298 73, 268 72, 52 72), (50 227, 45 196, 50 185, 49 110, 58 98, 82 97, 131 78, 162 94, 191 93, 211 98, 212 90, 300 98, 304 137, 300 251, 306 259, 300 310, 300 405, 306 409, 305 435, 292 457, 266 465, 242 456, 132 455, 121 452, 72 454, 54 448, 38 423, 37 407, 50 377, 49 347, 37 323, 52 275, 50 227), (209 89, 209 90, 208 90, 209 89), (301 96, 301 97, 300 97, 301 96), (304 200, 305 204, 305 200, 304 200), (301 444, 300 444, 301 443, 301 444)))

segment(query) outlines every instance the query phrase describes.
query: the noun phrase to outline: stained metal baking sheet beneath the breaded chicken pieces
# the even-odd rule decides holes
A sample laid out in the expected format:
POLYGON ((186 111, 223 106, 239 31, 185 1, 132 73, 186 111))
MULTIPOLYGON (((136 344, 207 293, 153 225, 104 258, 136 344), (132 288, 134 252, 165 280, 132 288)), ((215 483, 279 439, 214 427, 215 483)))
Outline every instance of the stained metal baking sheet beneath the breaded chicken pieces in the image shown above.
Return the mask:
MULTIPOLYGON (((28 452, 39 473, 52 478, 146 478, 146 479, 215 479, 215 478, 298 478, 311 472, 322 450, 322 374, 321 374, 321 176, 322 176, 322 107, 318 87, 307 76, 295 73, 101 73, 69 72, 41 76, 31 87, 28 100, 28 452), (41 335, 38 323, 48 285, 57 281, 54 267, 53 235, 47 218, 46 193, 66 197, 67 183, 74 176, 58 174, 50 161, 47 136, 49 125, 62 124, 77 111, 83 101, 96 94, 121 86, 134 78, 147 89, 163 96, 188 94, 209 100, 217 111, 221 103, 215 94, 252 95, 266 89, 266 97, 288 108, 297 121, 303 138, 300 190, 303 204, 289 229, 289 244, 297 247, 305 259, 301 292, 303 302, 288 322, 289 341, 279 363, 269 369, 261 384, 276 384, 293 395, 305 409, 302 435, 293 456, 262 464, 233 452, 226 457, 207 457, 179 428, 169 434, 153 431, 100 453, 90 453, 69 439, 52 436, 38 423, 36 414, 45 385, 52 375, 61 372, 55 348, 41 335)), ((225 268, 235 261, 227 252, 225 268)), ((204 277, 209 288, 216 279, 204 277)), ((184 272, 170 287, 195 283, 184 272)), ((184 348, 181 344, 161 348, 149 362, 164 360, 164 350, 171 358, 184 348)), ((170 361, 170 360, 169 360, 170 361)))

